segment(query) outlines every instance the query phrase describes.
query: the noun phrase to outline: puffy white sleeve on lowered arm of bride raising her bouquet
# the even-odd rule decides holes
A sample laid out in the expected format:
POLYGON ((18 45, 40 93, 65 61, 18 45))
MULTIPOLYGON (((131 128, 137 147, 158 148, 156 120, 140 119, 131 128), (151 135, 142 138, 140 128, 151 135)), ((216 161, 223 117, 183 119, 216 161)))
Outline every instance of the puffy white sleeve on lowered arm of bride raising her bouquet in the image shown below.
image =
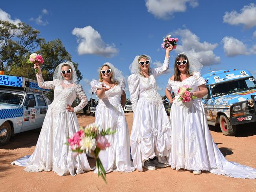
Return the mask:
POLYGON ((139 98, 139 75, 132 74, 128 78, 128 87, 130 91, 130 98, 132 102, 132 110, 136 111, 137 102, 139 98))

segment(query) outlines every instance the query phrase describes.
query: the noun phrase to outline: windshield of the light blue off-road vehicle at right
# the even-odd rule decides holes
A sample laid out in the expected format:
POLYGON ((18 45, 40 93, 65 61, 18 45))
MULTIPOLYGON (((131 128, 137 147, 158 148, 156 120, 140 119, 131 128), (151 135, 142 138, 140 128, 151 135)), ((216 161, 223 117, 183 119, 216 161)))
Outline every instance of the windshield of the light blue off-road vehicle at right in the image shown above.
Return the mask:
POLYGON ((226 81, 216 85, 211 85, 210 87, 212 96, 217 97, 242 90, 256 89, 256 81, 253 77, 250 77, 235 81, 226 81))

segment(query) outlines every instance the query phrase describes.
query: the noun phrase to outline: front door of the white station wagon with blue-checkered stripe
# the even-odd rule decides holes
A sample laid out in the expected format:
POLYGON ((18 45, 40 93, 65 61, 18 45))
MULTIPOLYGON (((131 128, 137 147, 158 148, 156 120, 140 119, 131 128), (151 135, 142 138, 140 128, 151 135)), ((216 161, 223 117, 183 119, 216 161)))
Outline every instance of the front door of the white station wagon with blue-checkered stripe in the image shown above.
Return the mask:
POLYGON ((34 94, 26 94, 24 102, 24 114, 23 114, 23 125, 22 130, 30 130, 39 128, 36 121, 36 102, 34 94), (28 103, 33 102, 34 107, 28 107, 28 103))

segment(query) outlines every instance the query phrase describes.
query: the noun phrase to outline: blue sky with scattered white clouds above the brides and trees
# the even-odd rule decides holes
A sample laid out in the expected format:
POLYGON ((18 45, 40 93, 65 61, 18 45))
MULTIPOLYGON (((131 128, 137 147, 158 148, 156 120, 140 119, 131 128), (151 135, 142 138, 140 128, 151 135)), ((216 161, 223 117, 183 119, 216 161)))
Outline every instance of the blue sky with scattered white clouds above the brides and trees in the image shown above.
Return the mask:
MULTIPOLYGON (((170 70, 157 79, 160 94, 173 75, 174 58, 186 51, 211 70, 247 69, 256 76, 256 2, 252 0, 3 1, 0 19, 25 22, 47 41, 59 38, 79 63, 88 97, 98 68, 110 62, 127 78, 136 55, 163 63, 163 37, 178 37, 170 70)), ((128 85, 126 86, 128 87, 128 85)), ((126 94, 129 98, 128 89, 126 94)), ((95 96, 94 96, 95 97, 95 96)))

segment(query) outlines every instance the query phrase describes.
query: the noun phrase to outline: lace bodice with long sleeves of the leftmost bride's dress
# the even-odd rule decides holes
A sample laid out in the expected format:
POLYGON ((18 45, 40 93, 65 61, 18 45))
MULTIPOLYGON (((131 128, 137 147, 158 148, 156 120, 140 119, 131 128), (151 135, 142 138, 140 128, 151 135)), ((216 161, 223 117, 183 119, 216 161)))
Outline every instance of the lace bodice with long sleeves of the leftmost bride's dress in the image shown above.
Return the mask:
POLYGON ((37 81, 41 88, 54 89, 54 100, 52 104, 49 105, 49 109, 52 109, 56 113, 67 111, 67 105, 72 105, 77 96, 80 98, 81 102, 78 106, 74 107, 74 112, 80 111, 88 103, 83 88, 79 84, 58 79, 54 81, 44 81, 41 74, 37 74, 37 81))

